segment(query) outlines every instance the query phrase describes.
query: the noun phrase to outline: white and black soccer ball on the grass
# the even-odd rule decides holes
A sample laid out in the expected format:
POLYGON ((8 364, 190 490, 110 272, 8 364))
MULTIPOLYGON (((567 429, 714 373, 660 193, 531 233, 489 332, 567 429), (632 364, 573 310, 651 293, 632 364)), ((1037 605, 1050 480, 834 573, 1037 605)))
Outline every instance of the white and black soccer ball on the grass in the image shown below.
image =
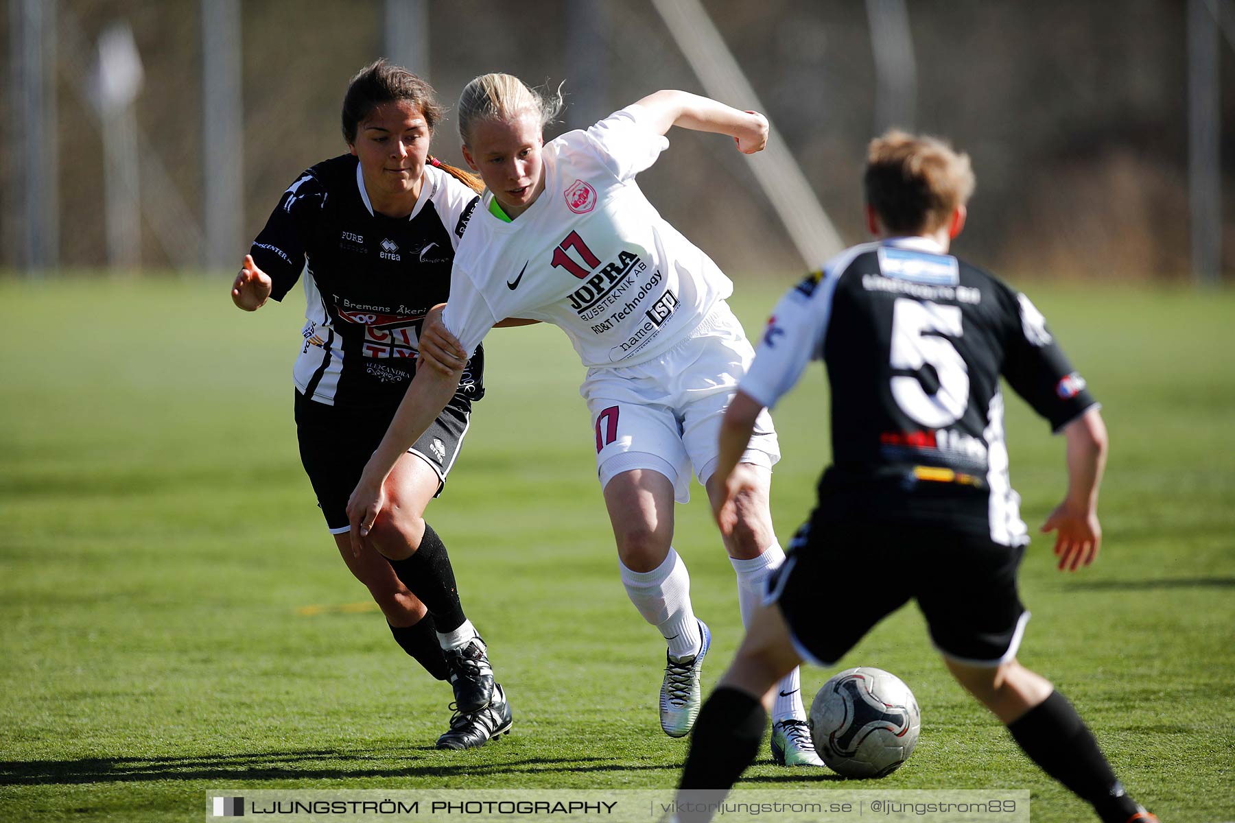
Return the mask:
POLYGON ((918 743, 921 712, 909 686, 883 669, 846 669, 810 705, 810 735, 827 766, 846 777, 883 777, 918 743))

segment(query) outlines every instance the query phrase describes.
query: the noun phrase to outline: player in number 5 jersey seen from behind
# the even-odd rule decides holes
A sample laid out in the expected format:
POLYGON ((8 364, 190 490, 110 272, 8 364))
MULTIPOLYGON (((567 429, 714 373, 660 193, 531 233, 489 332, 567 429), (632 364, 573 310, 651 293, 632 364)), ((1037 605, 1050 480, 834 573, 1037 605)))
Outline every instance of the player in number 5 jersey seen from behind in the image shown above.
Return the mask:
POLYGON ((811 360, 827 366, 834 461, 699 714, 680 786, 732 786, 755 756, 776 679, 802 660, 835 665, 914 598, 945 665, 1025 754, 1103 821, 1156 821, 1126 795, 1072 705, 1016 661, 1029 619, 1016 569, 1029 536, 1009 485, 999 378, 1066 440, 1067 495, 1042 526, 1056 532, 1061 570, 1088 565, 1102 537, 1098 405, 1029 299, 948 254, 973 191, 967 155, 889 132, 871 143, 865 183, 878 242, 847 249, 777 305, 725 415, 714 498, 722 531, 751 482, 737 457, 755 421, 811 360), (885 573, 878 585, 848 585, 872 563, 885 573))

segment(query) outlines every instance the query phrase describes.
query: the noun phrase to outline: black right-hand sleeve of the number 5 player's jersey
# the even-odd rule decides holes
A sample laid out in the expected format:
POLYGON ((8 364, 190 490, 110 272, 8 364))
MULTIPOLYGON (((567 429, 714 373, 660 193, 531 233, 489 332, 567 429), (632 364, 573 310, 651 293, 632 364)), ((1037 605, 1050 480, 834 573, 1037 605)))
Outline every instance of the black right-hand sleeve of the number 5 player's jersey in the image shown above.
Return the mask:
POLYGON ((1003 375, 1058 432, 1097 401, 1029 297, 1007 286, 1000 289, 1000 297, 1005 323, 1003 375))

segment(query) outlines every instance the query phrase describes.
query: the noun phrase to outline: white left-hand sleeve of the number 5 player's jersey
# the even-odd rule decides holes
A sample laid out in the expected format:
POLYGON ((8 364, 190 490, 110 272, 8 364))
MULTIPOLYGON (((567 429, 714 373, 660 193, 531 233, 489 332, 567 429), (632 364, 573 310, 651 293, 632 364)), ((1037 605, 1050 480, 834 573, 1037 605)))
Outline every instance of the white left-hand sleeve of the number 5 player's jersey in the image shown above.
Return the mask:
POLYGON ((739 384, 739 389, 768 408, 797 385, 811 360, 823 358, 836 281, 827 278, 819 283, 818 274, 813 278, 816 279, 810 294, 804 291, 811 283, 808 279, 777 304, 755 350, 755 362, 739 384))

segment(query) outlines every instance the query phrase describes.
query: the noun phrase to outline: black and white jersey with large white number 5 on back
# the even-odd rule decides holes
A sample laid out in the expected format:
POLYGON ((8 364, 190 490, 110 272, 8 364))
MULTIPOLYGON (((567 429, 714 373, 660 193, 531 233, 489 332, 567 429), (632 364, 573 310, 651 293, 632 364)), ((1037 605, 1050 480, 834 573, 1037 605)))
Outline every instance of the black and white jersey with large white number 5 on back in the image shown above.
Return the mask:
POLYGON ((850 248, 789 291, 741 390, 771 407, 814 359, 831 389, 824 519, 911 521, 1028 543, 999 376, 1056 431, 1094 405, 1025 295, 921 237, 850 248))

